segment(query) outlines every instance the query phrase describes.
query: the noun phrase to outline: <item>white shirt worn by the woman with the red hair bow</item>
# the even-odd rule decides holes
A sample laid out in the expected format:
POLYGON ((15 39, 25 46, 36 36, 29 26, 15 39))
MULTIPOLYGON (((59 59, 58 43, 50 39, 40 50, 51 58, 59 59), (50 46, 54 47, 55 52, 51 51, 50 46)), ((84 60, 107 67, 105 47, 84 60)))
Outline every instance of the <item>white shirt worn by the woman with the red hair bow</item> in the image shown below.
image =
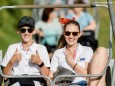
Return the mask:
MULTIPOLYGON (((51 67, 50 67, 50 70, 53 73, 57 71, 58 66, 65 67, 73 71, 74 73, 76 73, 66 62, 65 49, 66 47, 57 49, 54 52, 54 55, 51 60, 51 67)), ((76 58, 74 59, 74 62, 77 63, 80 67, 85 68, 85 63, 86 62, 90 63, 91 61, 91 58, 93 56, 93 50, 90 47, 82 46, 81 44, 78 44, 78 47, 76 49, 77 49, 77 55, 76 58)), ((81 80, 86 80, 86 79, 83 77, 76 77, 72 83, 76 83, 81 80)))

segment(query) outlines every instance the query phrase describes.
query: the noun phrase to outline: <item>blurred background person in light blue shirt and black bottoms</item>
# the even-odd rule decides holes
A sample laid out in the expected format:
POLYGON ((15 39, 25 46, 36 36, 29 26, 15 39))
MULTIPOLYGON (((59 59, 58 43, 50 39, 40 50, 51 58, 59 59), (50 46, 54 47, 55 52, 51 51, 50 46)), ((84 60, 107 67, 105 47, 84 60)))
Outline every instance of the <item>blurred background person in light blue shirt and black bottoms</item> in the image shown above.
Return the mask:
MULTIPOLYGON (((85 4, 83 0, 75 0, 74 4, 85 4)), ((98 42, 95 39, 96 22, 93 16, 85 8, 73 8, 73 12, 66 15, 67 18, 75 17, 80 24, 82 36, 78 42, 85 46, 90 46, 95 51, 98 42)))

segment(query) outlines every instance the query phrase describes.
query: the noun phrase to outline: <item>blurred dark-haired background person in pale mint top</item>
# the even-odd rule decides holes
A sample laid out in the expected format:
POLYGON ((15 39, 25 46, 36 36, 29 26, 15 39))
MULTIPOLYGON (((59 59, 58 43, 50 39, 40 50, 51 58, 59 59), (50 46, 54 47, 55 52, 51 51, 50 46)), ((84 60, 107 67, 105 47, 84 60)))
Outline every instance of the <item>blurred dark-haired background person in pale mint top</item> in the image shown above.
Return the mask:
POLYGON ((43 37, 41 43, 46 46, 48 53, 51 54, 55 50, 57 41, 63 31, 54 8, 43 10, 42 20, 36 22, 35 28, 38 36, 43 37))

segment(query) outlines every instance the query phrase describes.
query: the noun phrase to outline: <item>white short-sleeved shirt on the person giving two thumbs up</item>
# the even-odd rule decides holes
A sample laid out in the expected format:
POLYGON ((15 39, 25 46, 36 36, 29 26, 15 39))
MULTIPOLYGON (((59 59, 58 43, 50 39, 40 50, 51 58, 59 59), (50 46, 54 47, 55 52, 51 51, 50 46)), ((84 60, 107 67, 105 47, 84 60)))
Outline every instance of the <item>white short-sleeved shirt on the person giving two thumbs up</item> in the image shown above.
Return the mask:
POLYGON ((31 54, 36 54, 36 50, 38 51, 41 60, 44 62, 44 65, 46 67, 50 67, 50 61, 46 47, 40 44, 36 44, 35 42, 29 47, 28 51, 23 49, 21 42, 10 45, 2 61, 2 66, 6 67, 9 60, 14 55, 16 48, 18 49, 18 52, 22 54, 22 59, 20 62, 14 63, 11 71, 12 75, 40 75, 39 66, 33 64, 30 61, 31 54))

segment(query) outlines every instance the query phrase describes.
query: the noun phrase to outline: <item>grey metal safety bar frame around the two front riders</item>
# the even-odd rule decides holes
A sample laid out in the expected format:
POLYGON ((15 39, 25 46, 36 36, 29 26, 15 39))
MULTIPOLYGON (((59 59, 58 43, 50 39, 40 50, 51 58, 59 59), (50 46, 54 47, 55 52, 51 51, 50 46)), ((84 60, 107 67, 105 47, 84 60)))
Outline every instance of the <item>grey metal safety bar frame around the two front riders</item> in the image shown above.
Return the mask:
MULTIPOLYGON (((0 7, 0 10, 2 10, 2 9, 10 9, 10 8, 16 8, 16 9, 18 9, 18 8, 20 8, 20 9, 23 9, 23 8, 27 8, 27 9, 29 9, 29 8, 74 8, 74 7, 86 7, 86 8, 91 8, 91 7, 105 7, 105 8, 108 8, 108 6, 107 5, 100 5, 100 4, 74 4, 74 5, 67 5, 67 4, 65 4, 65 5, 14 5, 14 6, 2 6, 2 7, 0 7)), ((110 14, 111 15, 111 14, 110 14)), ((112 27, 113 28, 113 27, 112 27)), ((81 74, 79 74, 79 75, 60 75, 60 76, 57 76, 55 79, 54 79, 54 82, 53 82, 53 85, 52 86, 55 86, 54 84, 55 84, 55 81, 58 79, 58 78, 60 78, 60 77, 99 77, 99 76, 102 76, 102 75, 104 75, 105 74, 105 72, 106 72, 106 69, 107 69, 107 67, 108 67, 108 65, 109 65, 109 62, 110 62, 110 60, 111 60, 111 58, 112 58, 112 42, 110 41, 110 47, 109 47, 109 58, 108 58, 108 62, 107 62, 107 65, 106 65, 106 67, 104 68, 104 70, 103 70, 103 72, 101 73, 101 74, 88 74, 88 75, 81 75, 81 74)), ((31 78, 31 77, 43 77, 43 78, 47 78, 51 83, 52 83, 52 81, 51 81, 51 79, 49 79, 48 77, 46 77, 46 76, 43 76, 43 75, 39 75, 39 76, 37 76, 37 75, 35 75, 35 76, 7 76, 7 75, 4 75, 3 73, 2 73, 2 70, 1 70, 1 75, 3 76, 3 77, 6 77, 6 78, 14 78, 14 77, 16 77, 16 78, 25 78, 25 77, 29 77, 29 78, 31 78)))

